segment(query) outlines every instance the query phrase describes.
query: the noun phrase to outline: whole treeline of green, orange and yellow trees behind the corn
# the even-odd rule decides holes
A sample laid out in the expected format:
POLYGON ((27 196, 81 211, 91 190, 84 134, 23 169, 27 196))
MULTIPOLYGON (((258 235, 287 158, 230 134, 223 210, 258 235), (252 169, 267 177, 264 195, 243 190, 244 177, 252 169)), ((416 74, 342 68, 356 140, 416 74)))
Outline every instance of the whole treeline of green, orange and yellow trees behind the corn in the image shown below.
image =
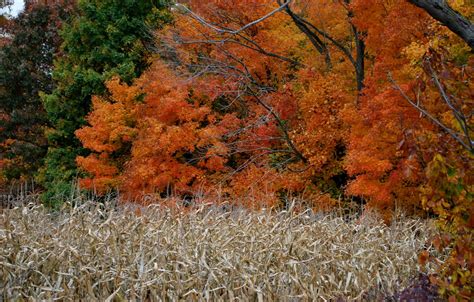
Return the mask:
MULTIPOLYGON (((470 1, 82 0, 1 22, 0 182, 438 218, 472 294, 470 1)), ((3 2, 2 2, 3 3, 3 2)), ((430 255, 420 256, 426 262, 430 255)))

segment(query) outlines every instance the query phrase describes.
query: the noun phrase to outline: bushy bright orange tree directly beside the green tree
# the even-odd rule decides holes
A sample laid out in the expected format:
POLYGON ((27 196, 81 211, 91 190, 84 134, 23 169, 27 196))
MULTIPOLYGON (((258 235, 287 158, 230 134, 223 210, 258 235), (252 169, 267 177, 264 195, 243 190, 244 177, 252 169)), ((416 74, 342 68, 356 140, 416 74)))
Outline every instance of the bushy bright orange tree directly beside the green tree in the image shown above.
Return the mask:
POLYGON ((113 79, 107 88, 109 97, 93 100, 90 126, 76 132, 93 151, 77 159, 90 175, 84 187, 159 197, 196 190, 208 174, 224 170, 228 149, 219 138, 233 127, 233 116, 214 114, 164 64, 156 61, 131 86, 113 79))

